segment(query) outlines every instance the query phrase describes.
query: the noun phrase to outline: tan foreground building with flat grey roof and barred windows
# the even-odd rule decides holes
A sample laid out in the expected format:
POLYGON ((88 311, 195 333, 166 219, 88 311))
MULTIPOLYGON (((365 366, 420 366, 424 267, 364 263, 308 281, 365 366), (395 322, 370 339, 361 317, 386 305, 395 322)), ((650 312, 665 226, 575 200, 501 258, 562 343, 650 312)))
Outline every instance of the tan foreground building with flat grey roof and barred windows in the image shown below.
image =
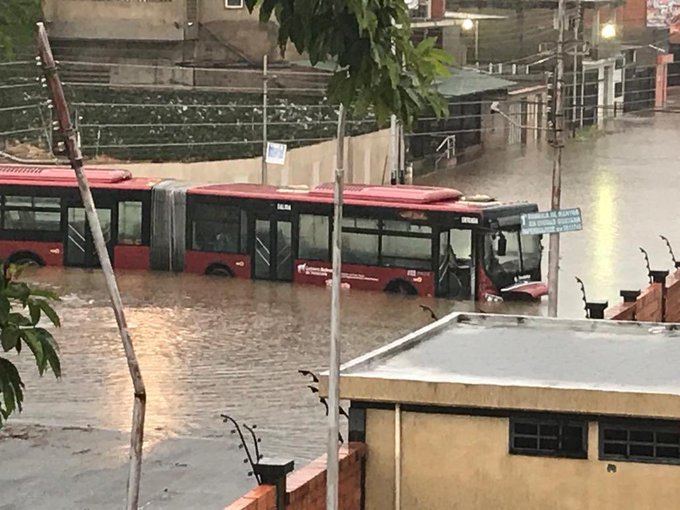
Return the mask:
POLYGON ((679 340, 670 325, 452 314, 347 363, 365 510, 679 508, 679 340))

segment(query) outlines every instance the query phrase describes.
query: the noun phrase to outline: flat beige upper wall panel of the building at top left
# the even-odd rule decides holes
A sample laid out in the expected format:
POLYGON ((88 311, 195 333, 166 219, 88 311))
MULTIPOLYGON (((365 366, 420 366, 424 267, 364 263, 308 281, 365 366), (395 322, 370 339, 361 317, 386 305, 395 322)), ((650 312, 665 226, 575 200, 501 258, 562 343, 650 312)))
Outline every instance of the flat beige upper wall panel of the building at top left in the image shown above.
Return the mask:
POLYGON ((121 2, 43 0, 50 36, 68 39, 180 41, 186 28, 184 0, 121 2))

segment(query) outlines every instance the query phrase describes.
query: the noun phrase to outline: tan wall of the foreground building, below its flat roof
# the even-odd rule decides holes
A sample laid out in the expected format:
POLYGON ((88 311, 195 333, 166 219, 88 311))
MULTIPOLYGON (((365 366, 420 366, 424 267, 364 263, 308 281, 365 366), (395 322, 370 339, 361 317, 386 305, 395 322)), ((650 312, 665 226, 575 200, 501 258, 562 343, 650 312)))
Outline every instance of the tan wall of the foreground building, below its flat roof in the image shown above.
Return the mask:
MULTIPOLYGON (((680 507, 680 466, 508 454, 507 418, 402 413, 404 510, 656 510, 680 507), (616 465, 616 472, 607 466, 616 465)), ((366 510, 394 506, 394 412, 366 417, 366 510)))

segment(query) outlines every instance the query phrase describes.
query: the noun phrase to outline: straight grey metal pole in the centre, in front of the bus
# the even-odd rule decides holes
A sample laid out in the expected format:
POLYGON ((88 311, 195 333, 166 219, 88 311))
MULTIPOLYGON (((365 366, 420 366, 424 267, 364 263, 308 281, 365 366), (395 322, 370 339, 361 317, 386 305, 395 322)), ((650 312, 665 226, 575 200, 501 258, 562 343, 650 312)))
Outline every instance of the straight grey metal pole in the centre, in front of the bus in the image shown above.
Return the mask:
POLYGON ((328 450, 326 510, 338 510, 338 435, 340 433, 340 284, 342 277, 342 188, 345 179, 345 108, 338 110, 338 145, 333 200, 333 282, 331 286, 331 348, 328 371, 328 450))

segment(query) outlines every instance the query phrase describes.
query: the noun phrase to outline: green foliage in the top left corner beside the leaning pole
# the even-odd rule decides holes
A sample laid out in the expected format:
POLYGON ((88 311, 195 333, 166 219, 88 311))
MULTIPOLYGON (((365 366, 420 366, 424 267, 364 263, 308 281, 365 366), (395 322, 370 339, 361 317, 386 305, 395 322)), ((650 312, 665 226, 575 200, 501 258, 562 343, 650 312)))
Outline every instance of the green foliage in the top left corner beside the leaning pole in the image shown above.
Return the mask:
POLYGON ((11 59, 22 46, 33 44, 41 14, 40 0, 0 0, 0 60, 11 59))

